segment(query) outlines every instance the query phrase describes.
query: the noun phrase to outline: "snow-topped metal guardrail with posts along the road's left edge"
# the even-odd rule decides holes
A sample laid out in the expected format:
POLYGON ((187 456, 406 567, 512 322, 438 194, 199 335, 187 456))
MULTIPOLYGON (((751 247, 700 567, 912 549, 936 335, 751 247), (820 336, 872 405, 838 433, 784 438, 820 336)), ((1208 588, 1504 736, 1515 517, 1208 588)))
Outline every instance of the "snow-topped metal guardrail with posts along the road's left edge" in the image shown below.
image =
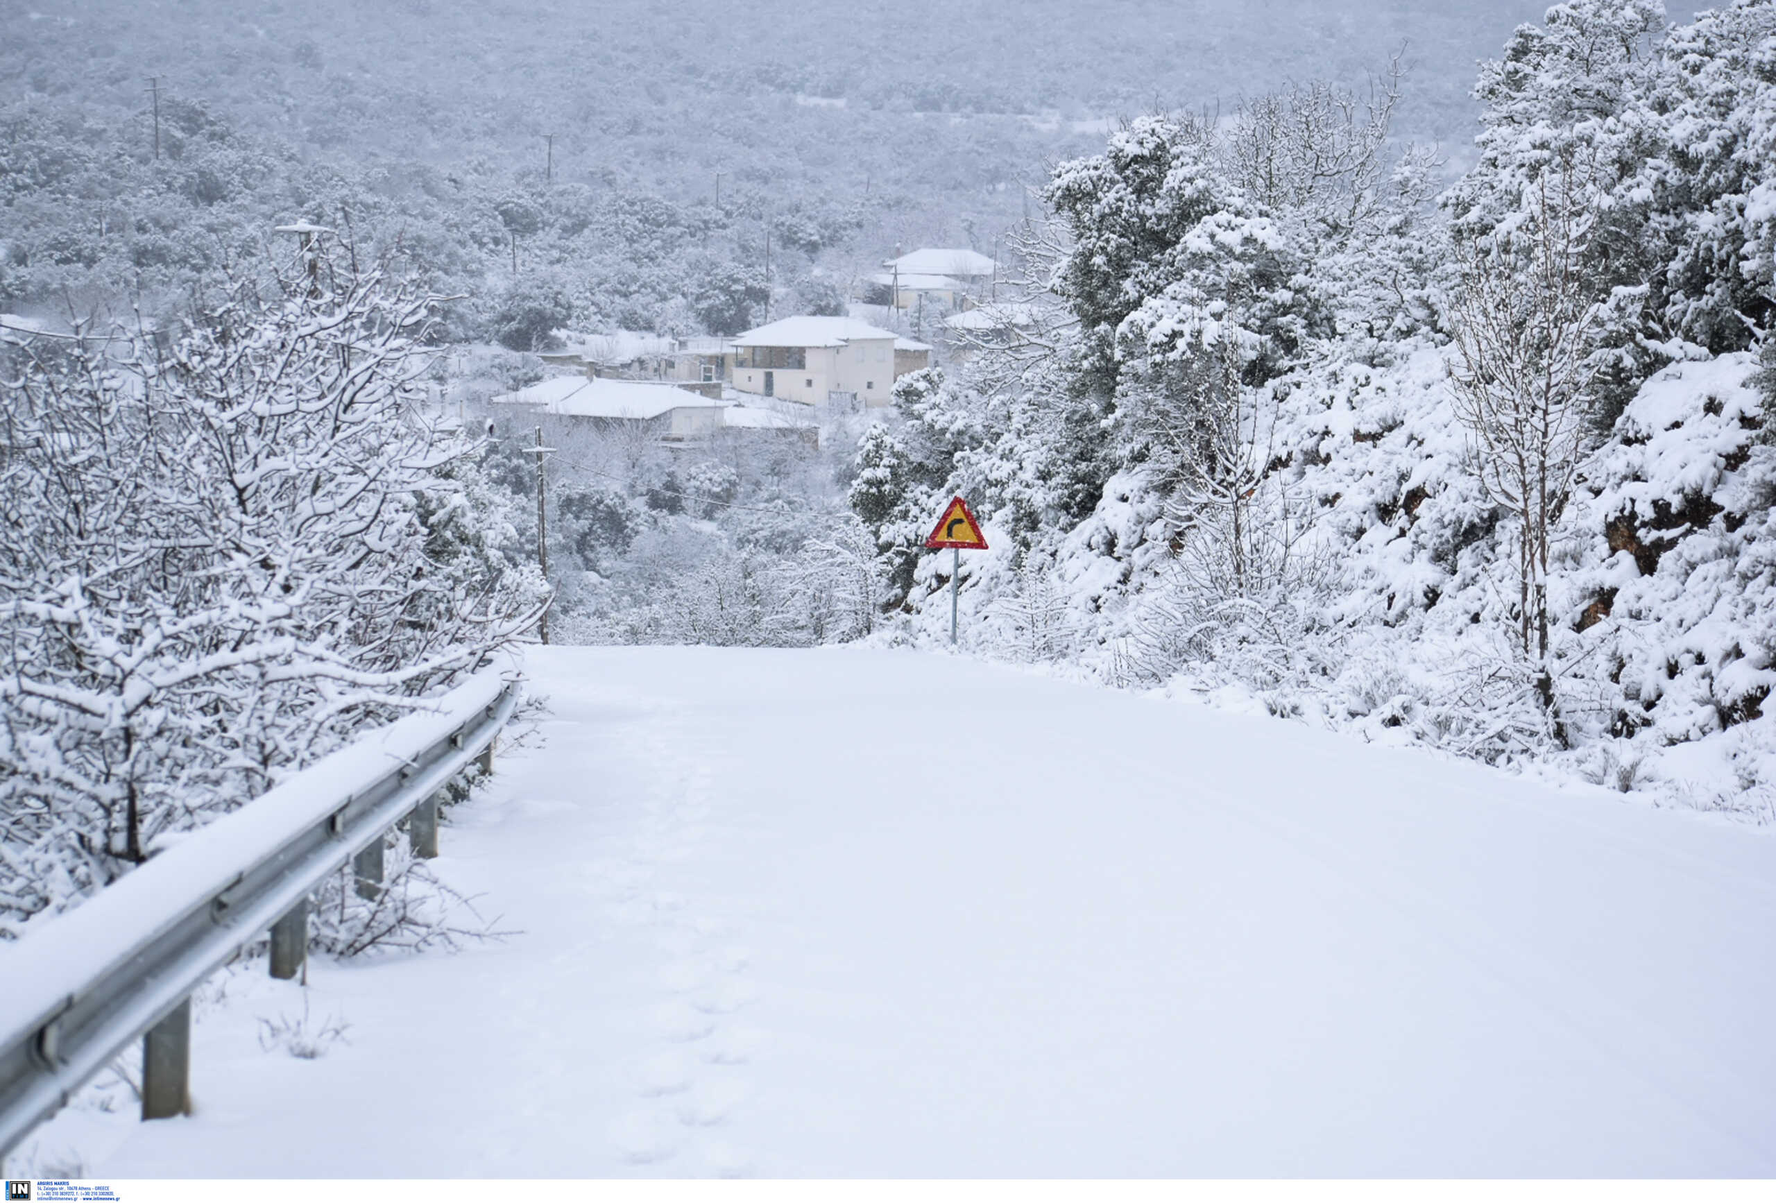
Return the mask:
POLYGON ((0 947, 0 1153, 137 1036, 142 1118, 185 1112, 192 990, 265 931, 272 974, 293 977, 309 894, 348 860, 375 894, 403 817, 414 851, 435 856, 437 794, 476 757, 492 768, 517 704, 517 681, 483 672, 0 947))

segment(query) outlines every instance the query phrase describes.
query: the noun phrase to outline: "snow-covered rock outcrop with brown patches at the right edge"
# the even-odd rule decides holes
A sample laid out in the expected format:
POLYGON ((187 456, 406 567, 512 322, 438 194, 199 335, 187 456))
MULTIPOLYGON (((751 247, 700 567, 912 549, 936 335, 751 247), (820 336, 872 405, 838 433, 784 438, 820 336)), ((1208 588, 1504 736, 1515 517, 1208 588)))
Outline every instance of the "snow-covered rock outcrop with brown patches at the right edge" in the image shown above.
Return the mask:
MULTIPOLYGON (((1764 439, 1751 355, 1666 368, 1586 466, 1575 506, 1582 640, 1620 682, 1620 727, 1723 789, 1767 791, 1776 686, 1776 448, 1764 439)), ((1625 732, 1625 734, 1627 734, 1625 732)))

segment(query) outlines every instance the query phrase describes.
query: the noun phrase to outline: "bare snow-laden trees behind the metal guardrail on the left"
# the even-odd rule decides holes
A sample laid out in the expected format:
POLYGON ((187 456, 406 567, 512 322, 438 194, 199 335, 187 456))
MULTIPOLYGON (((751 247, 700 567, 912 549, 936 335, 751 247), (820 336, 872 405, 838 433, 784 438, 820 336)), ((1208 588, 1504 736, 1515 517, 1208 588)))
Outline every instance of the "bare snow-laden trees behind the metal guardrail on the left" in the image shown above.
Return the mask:
POLYGON ((5 348, 9 933, 535 620, 540 581, 464 505, 469 444, 421 412, 435 302, 320 249, 295 267, 172 341, 5 348))

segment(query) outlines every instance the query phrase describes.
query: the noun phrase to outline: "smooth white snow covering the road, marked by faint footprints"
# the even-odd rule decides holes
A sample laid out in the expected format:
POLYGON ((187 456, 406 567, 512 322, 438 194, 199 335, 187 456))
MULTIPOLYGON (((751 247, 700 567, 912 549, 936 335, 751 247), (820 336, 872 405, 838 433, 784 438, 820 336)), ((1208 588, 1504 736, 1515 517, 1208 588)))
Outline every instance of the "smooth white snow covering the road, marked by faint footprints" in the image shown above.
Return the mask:
MULTIPOLYGON (((210 990, 131 1176, 1776 1175, 1776 841, 961 657, 549 649, 501 944, 210 990), (222 993, 220 1000, 213 997, 222 993)), ((20 1173, 23 1166, 11 1162, 20 1173)))

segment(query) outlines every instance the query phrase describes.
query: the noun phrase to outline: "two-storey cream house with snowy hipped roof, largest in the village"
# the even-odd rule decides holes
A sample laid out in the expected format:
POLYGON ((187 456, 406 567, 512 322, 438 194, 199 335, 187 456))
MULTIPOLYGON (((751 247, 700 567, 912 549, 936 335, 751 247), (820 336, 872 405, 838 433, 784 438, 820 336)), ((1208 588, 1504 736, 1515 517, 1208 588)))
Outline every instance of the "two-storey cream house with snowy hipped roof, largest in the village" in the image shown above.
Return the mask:
POLYGON ((895 334, 856 318, 783 318, 732 339, 733 387, 803 405, 833 394, 886 405, 895 378, 895 334))

